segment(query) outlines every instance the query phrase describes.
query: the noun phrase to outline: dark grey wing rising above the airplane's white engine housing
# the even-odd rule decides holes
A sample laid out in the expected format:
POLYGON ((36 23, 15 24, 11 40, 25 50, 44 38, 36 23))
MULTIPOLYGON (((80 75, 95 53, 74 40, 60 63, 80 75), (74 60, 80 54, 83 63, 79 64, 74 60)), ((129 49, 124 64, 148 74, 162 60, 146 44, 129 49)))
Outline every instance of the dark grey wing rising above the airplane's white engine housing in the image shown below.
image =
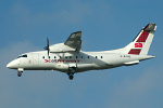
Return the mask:
POLYGON ((82 31, 73 32, 71 33, 68 39, 64 42, 64 44, 75 49, 76 52, 79 52, 82 48, 80 37, 82 37, 82 31))

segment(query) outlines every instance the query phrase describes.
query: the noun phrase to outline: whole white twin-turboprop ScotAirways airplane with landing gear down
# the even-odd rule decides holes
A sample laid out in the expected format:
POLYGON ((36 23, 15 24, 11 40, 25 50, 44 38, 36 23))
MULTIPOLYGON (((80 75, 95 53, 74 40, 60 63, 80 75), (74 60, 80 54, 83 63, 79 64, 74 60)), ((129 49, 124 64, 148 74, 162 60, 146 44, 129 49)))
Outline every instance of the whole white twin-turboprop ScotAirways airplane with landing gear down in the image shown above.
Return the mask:
POLYGON ((76 72, 136 65, 141 60, 155 57, 148 55, 155 29, 155 24, 148 24, 125 48, 101 52, 80 50, 82 31, 73 32, 64 43, 53 45, 49 45, 47 38, 45 48, 47 51, 22 54, 7 67, 17 69, 18 77, 24 70, 58 70, 67 73, 72 80, 76 72))

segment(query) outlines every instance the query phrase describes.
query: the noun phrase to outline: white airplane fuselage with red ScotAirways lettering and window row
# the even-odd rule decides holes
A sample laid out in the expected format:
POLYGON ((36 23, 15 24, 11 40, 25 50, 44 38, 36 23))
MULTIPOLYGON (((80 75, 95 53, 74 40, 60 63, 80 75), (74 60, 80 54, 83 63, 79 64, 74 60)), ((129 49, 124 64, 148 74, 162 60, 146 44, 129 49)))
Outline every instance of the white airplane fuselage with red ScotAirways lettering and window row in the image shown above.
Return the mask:
POLYGON ((126 63, 135 65, 139 60, 151 57, 153 56, 118 54, 112 51, 50 53, 48 57, 47 51, 39 51, 22 54, 22 56, 9 63, 7 67, 17 70, 59 70, 62 72, 68 72, 70 67, 75 67, 75 72, 82 72, 127 66, 126 63))

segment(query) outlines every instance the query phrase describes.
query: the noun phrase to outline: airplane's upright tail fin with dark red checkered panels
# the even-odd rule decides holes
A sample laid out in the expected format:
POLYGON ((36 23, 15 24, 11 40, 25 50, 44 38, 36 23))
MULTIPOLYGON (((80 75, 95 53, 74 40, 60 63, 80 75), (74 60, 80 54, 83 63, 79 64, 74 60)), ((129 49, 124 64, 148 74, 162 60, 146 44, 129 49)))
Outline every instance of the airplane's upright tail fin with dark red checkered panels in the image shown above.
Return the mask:
MULTIPOLYGON (((138 36, 122 49, 121 53, 131 54, 131 55, 147 55, 153 40, 154 31, 156 29, 155 24, 148 24, 145 28, 140 30, 138 36)), ((153 56, 154 57, 154 56, 153 56)))

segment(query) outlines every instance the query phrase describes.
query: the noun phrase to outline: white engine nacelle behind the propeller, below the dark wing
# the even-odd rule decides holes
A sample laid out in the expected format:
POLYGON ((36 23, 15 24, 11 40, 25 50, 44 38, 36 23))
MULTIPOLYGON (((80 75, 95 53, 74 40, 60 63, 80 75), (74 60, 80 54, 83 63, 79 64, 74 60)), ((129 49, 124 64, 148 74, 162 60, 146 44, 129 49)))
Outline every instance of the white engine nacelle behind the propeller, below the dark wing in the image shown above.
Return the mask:
POLYGON ((75 49, 65 45, 64 43, 53 44, 49 46, 50 53, 74 52, 75 49))

